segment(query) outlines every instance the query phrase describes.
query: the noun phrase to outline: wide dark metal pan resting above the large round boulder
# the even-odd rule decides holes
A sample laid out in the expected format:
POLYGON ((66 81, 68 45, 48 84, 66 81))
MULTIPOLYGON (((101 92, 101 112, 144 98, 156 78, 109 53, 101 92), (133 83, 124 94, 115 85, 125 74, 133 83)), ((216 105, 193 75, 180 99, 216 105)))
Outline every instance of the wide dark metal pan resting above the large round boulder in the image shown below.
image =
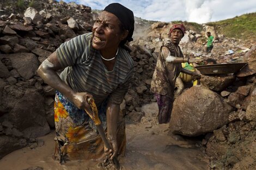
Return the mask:
POLYGON ((234 74, 237 73, 247 62, 241 63, 224 63, 224 64, 209 64, 196 66, 201 74, 234 74))

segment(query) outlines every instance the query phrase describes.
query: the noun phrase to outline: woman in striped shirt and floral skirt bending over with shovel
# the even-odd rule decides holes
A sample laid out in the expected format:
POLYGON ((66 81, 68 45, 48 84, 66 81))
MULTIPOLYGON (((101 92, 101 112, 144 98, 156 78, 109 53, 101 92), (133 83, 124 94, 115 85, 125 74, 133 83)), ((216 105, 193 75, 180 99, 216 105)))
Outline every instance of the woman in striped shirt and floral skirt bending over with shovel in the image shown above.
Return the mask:
POLYGON ((133 61, 124 44, 133 40, 133 30, 133 12, 119 3, 109 4, 97 17, 92 33, 63 43, 38 68, 45 83, 57 90, 54 156, 61 163, 113 159, 124 154, 125 122, 120 103, 133 73, 133 61), (84 111, 92 111, 88 98, 97 105, 112 149, 104 149, 92 119, 84 111))

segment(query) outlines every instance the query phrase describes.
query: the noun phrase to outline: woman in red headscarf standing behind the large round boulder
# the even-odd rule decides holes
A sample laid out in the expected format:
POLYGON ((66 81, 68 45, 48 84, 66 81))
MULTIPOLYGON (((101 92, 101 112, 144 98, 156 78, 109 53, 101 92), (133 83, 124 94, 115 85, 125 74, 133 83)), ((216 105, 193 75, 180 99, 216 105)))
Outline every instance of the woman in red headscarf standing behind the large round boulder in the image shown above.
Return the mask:
POLYGON ((190 74, 194 78, 200 78, 200 74, 191 72, 181 67, 181 62, 200 62, 196 58, 184 58, 179 47, 180 40, 185 34, 183 24, 174 24, 170 28, 168 36, 170 42, 161 47, 157 59, 156 68, 151 81, 151 91, 155 93, 159 106, 159 123, 168 123, 173 108, 174 87, 176 78, 180 72, 190 74))

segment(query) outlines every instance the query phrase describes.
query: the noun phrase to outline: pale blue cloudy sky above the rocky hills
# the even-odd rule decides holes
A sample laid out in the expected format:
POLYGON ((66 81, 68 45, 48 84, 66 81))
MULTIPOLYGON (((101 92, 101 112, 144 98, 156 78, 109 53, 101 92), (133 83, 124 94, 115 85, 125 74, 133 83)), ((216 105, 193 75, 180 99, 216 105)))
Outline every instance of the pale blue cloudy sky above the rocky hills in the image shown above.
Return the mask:
MULTIPOLYGON (((59 0, 58 0, 59 1, 59 0)), ((207 23, 256 12, 256 0, 64 0, 103 10, 118 2, 145 20, 207 23)))

